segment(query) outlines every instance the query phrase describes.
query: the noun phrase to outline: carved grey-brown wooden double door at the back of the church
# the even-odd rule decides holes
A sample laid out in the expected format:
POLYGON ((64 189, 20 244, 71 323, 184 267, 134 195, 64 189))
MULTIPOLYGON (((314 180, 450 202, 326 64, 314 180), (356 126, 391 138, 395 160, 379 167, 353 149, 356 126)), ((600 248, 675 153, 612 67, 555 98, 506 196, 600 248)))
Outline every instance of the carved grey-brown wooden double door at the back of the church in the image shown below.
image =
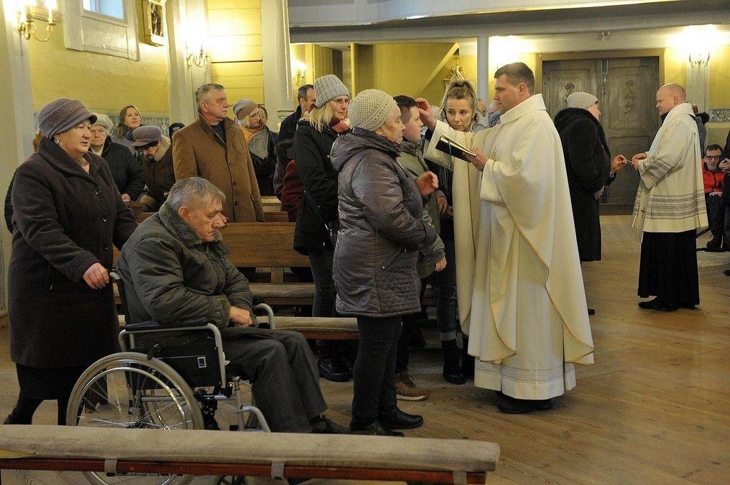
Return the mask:
MULTIPOLYGON (((542 64, 542 93, 550 116, 566 107, 574 91, 599 100, 601 124, 612 155, 631 158, 648 150, 659 126, 654 108, 658 88, 658 58, 612 58, 546 61, 542 64)), ((639 175, 620 171, 602 197, 602 212, 628 214, 634 204, 639 175)))

